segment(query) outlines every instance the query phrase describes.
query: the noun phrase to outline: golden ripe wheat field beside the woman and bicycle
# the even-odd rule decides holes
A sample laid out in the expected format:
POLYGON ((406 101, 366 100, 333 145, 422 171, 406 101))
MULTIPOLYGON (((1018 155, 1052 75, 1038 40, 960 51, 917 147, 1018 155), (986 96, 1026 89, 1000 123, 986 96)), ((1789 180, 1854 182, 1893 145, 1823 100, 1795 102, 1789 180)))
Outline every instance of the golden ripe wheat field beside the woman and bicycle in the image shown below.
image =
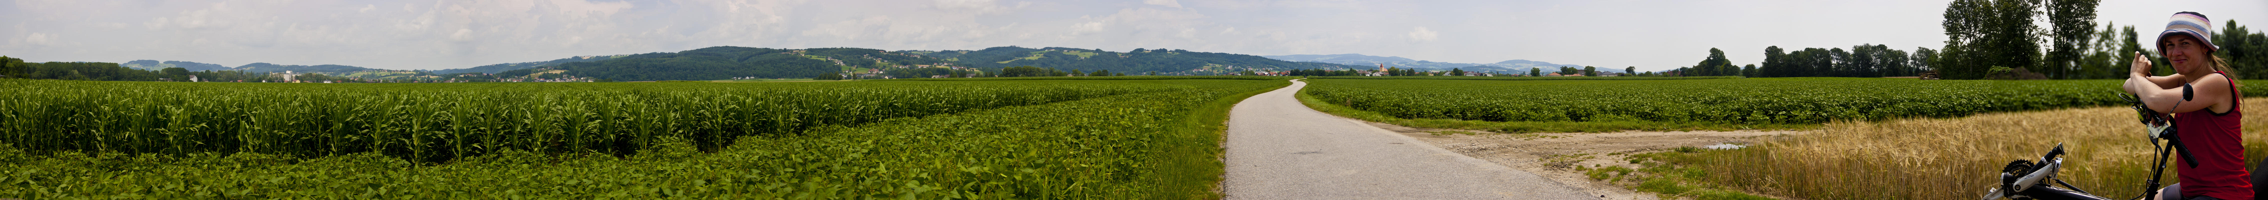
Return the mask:
MULTIPOLYGON (((2268 105, 2248 98, 2243 105, 2268 105)), ((2245 114, 2268 109, 2243 107, 2245 114)), ((2250 116, 2245 157, 2263 157, 2263 116, 2250 116)), ((2107 198, 2141 193, 2157 159, 2127 107, 1828 123, 1812 134, 1762 139, 1758 148, 1710 152, 1715 182, 1808 200, 1975 200, 2012 159, 2055 143, 2071 152, 2059 177, 2107 198)), ((2250 161, 2248 161, 2250 164, 2250 161)), ((2173 180, 2168 166, 2164 182, 2173 180)))

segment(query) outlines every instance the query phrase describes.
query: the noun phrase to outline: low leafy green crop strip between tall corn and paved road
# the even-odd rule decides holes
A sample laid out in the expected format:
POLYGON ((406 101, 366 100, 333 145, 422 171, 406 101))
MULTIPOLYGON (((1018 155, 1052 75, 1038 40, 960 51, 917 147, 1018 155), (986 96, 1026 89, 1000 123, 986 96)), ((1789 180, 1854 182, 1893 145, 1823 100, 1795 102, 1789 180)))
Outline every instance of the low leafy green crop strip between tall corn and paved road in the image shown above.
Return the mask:
MULTIPOLYGON (((792 84, 792 82, 780 82, 792 84)), ((1102 82, 1120 93, 753 134, 717 150, 655 136, 637 155, 497 150, 447 164, 379 152, 125 155, 27 152, 0 143, 0 198, 27 200, 1204 200, 1220 177, 1220 123, 1243 95, 1288 82, 1102 82)), ((626 84, 533 84, 644 89, 626 84)), ((667 84, 701 86, 701 84, 667 84)), ((746 84, 728 84, 746 86, 746 84)), ((803 84, 866 89, 873 84, 803 84)), ((878 86, 1023 89, 1084 82, 905 82, 878 86)), ((422 89, 422 86, 420 86, 422 89)), ((499 84, 497 89, 519 89, 499 84)), ((778 86, 794 89, 794 86, 778 86)), ((447 89, 445 89, 447 91, 447 89)), ((714 91, 723 93, 723 91, 714 91)), ((626 98, 624 98, 626 100, 626 98)), ((812 98, 819 100, 819 98, 812 98)))

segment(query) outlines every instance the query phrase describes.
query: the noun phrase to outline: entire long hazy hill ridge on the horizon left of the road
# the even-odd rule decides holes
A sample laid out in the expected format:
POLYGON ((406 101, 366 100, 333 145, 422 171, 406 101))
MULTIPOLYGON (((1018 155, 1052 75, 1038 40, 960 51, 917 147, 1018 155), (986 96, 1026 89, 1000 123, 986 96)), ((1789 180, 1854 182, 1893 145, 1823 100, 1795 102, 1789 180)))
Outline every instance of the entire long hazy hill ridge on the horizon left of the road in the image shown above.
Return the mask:
MULTIPOLYGON (((1402 57, 1368 57, 1368 55, 1336 55, 1336 57, 1309 57, 1309 59, 1374 59, 1402 64, 1436 64, 1442 70, 1458 66, 1442 66, 1438 61, 1413 61, 1402 57)), ((152 61, 138 59, 122 66, 159 70, 159 68, 191 68, 191 70, 245 70, 245 73, 324 73, 340 77, 399 77, 399 75, 424 75, 424 77, 449 77, 456 73, 508 73, 508 70, 560 70, 574 77, 594 80, 617 80, 617 82, 649 82, 649 80, 735 80, 735 77, 819 77, 826 73, 871 73, 871 70, 928 70, 930 66, 959 66, 953 70, 998 70, 1007 66, 1039 66, 1057 70, 1111 70, 1123 75, 1236 75, 1241 70, 1309 70, 1309 68, 1372 68, 1372 64, 1327 64, 1327 61, 1286 61, 1259 55, 1229 55, 1229 52, 1191 52, 1191 50, 1148 50, 1134 48, 1127 52, 1111 50, 1086 50, 1086 48, 984 48, 984 50, 873 50, 873 48, 699 48, 683 52, 644 52, 644 55, 601 55, 601 57, 567 57, 551 61, 519 61, 519 64, 490 64, 472 68, 445 68, 445 70, 383 70, 383 68, 361 68, 361 66, 286 66, 286 64, 245 64, 236 68, 225 68, 218 64, 195 64, 195 61, 152 61)), ((1483 68, 1465 68, 1483 70, 1483 68)), ((891 73, 896 77, 909 77, 903 73, 891 73)), ((912 75, 912 77, 925 77, 912 75)))

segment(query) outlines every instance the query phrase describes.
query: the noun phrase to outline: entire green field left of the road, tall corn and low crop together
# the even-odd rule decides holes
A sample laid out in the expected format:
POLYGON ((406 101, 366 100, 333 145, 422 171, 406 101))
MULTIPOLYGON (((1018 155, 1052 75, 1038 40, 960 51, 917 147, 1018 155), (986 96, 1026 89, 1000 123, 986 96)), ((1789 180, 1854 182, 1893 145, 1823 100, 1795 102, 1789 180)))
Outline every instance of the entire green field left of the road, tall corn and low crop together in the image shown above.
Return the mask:
POLYGON ((1211 198, 1263 80, 0 80, 0 198, 1211 198))

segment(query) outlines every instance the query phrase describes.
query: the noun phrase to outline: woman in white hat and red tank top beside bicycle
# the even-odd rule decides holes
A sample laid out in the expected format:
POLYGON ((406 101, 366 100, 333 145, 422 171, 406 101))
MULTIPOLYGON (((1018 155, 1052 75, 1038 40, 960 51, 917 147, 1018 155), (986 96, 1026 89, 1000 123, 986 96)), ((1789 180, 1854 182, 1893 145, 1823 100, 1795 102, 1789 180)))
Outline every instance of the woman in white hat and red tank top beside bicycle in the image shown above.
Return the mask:
POLYGON ((2245 148, 2236 102, 2236 80, 2229 66, 2214 57, 2211 20, 2198 11, 2173 14, 2157 50, 2173 61, 2175 75, 2150 77, 2150 59, 2134 52, 2134 70, 2125 91, 2141 95, 2152 111, 2173 114, 2182 145, 2198 166, 2180 161, 2182 182, 2166 186, 2157 200, 2252 200, 2252 177, 2245 173, 2245 148), (2189 93, 2184 98, 2184 93, 2189 93))

